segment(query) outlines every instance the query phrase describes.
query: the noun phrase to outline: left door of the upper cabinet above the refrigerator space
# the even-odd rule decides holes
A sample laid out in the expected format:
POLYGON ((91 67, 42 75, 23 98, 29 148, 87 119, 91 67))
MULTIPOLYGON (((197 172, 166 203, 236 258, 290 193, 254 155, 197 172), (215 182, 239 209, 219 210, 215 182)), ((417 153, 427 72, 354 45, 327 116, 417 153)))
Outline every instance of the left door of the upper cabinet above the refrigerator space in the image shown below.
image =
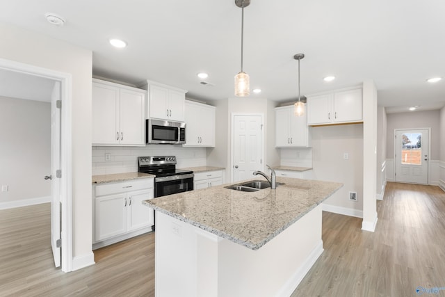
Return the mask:
POLYGON ((307 97, 307 125, 329 124, 333 121, 332 95, 307 97))

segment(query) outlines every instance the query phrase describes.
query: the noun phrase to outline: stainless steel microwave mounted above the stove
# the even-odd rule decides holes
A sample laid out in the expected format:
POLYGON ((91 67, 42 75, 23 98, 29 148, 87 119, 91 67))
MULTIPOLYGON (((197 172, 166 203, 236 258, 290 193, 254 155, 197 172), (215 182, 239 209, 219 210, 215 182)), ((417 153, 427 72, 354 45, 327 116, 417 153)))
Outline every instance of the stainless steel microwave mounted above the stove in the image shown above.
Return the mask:
POLYGON ((186 143, 186 123, 170 120, 146 120, 147 143, 177 145, 186 143))

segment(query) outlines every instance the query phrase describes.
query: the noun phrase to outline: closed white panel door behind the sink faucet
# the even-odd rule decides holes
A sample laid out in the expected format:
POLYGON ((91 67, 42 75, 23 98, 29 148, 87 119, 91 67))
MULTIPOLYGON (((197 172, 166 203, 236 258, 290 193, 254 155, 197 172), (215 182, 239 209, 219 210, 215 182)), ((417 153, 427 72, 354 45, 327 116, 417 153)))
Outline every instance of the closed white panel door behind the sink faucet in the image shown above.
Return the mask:
POLYGON ((262 170, 261 115, 234 115, 233 122, 233 182, 253 177, 262 170))

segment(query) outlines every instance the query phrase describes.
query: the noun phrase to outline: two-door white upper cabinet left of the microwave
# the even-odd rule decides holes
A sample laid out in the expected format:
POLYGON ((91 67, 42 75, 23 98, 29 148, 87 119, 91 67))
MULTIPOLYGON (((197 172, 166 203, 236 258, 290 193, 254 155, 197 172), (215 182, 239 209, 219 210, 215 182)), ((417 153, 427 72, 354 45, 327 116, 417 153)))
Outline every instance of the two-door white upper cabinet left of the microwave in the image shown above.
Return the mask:
POLYGON ((92 81, 92 145, 145 145, 145 90, 92 81))

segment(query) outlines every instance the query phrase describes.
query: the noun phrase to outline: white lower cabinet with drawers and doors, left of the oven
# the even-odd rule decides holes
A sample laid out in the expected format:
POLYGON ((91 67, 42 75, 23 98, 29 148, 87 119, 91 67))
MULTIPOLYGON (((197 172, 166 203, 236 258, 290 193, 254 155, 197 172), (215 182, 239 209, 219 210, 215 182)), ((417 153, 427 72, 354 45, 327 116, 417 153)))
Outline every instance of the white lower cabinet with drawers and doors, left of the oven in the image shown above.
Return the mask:
POLYGON ((93 249, 148 232, 153 209, 142 204, 154 197, 153 179, 100 184, 93 193, 93 249))

